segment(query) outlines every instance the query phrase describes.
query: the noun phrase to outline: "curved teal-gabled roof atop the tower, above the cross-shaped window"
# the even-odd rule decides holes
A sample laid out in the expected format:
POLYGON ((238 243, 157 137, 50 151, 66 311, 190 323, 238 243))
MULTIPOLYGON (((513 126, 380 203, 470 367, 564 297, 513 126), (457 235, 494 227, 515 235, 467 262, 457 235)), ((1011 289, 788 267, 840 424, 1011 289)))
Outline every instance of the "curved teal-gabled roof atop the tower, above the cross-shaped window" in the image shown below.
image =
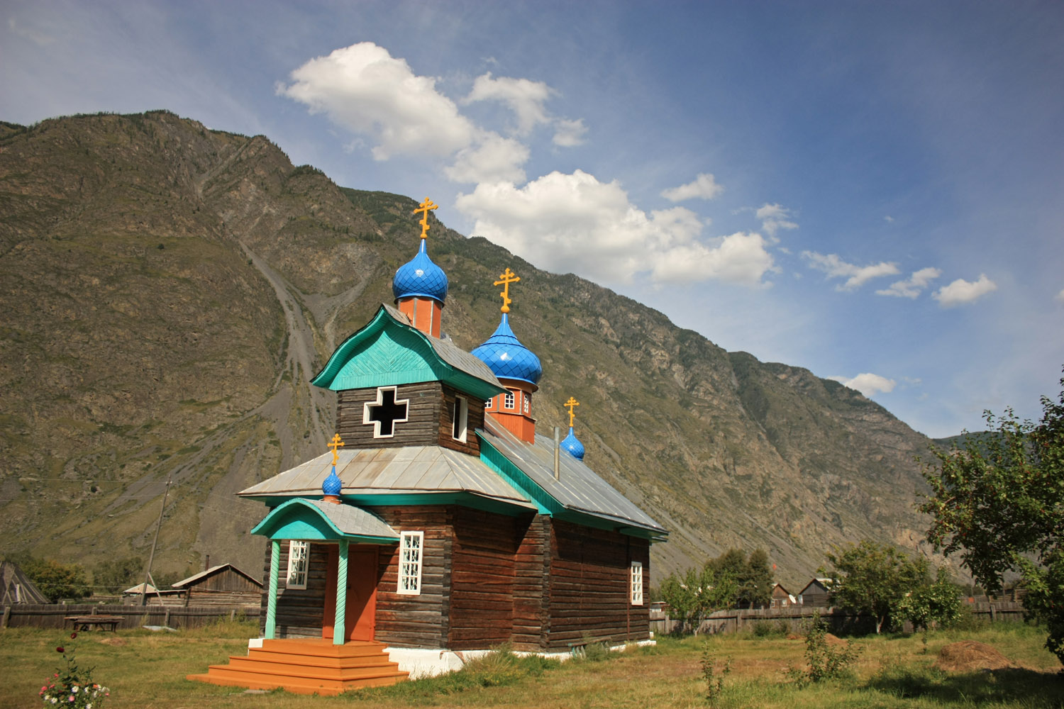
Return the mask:
POLYGON ((487 400, 505 391, 483 361, 413 327, 406 316, 382 305, 373 319, 336 348, 311 384, 333 391, 443 382, 487 400))

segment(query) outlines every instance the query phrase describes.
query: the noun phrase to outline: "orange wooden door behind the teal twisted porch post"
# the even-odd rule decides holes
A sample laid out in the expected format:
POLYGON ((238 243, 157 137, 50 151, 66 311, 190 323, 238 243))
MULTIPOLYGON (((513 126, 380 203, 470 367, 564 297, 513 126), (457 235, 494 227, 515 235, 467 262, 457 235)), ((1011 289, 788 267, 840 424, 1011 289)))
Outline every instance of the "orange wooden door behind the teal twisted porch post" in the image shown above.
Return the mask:
MULTIPOLYGON (((326 608, 321 637, 332 639, 336 622, 336 570, 339 547, 329 547, 326 608)), ((372 640, 377 627, 377 546, 351 546, 347 553, 347 608, 344 614, 347 640, 372 640)))

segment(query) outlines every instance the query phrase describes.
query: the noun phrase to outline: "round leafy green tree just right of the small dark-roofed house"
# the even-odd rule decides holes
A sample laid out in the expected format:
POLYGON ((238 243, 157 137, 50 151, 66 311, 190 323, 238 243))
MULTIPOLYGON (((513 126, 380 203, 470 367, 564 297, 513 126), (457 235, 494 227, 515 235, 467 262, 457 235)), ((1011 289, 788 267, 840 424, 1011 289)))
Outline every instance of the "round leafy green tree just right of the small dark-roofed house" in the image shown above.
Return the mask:
POLYGON ((870 614, 876 632, 888 625, 905 594, 928 583, 928 563, 910 559, 896 546, 864 540, 836 547, 828 559, 831 572, 831 601, 870 614))

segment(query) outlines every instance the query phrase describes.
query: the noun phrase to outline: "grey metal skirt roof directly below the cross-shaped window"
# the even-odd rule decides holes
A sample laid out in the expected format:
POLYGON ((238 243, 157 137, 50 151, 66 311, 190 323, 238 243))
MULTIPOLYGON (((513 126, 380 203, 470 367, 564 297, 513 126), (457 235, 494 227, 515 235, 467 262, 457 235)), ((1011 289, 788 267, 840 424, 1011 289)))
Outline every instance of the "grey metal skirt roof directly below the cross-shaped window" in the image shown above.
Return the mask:
MULTIPOLYGON (((300 463, 237 494, 244 497, 317 496, 332 469, 332 453, 300 463)), ((342 495, 470 492, 534 509, 480 458, 438 445, 347 449, 338 452, 342 495)))

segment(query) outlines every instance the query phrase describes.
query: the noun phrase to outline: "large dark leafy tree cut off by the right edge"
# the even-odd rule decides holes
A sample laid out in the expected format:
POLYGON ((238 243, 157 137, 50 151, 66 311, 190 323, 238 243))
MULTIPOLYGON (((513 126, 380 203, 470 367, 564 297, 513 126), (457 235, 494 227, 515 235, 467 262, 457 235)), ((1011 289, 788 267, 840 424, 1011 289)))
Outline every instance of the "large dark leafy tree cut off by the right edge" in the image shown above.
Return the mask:
POLYGON ((1059 403, 1042 398, 1037 424, 1012 409, 986 411, 988 433, 960 449, 932 448, 919 509, 932 517, 928 539, 959 554, 988 591, 1007 572, 1023 575, 1024 607, 1047 625, 1046 647, 1064 662, 1064 378, 1061 388, 1059 403))

